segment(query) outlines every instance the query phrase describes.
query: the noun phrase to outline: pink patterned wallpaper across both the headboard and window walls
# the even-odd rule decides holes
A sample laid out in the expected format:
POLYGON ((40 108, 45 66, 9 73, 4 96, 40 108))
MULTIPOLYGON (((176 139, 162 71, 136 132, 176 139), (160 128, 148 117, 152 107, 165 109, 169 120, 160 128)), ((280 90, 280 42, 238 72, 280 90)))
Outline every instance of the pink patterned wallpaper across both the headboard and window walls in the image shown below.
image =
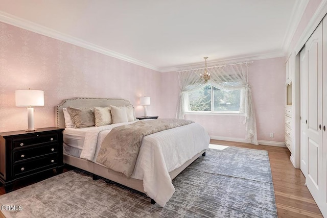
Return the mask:
MULTIPOLYGON (((284 141, 285 59, 254 61, 250 84, 259 140, 284 141), (269 132, 275 137, 269 138, 269 132)), ((55 126, 55 106, 74 97, 124 98, 143 115, 139 96, 151 96, 149 115, 175 117, 176 72, 154 70, 0 22, 0 132, 27 128, 27 110, 15 106, 15 90, 44 90, 35 128, 55 126)), ((243 117, 188 115, 212 136, 244 138, 243 117)))

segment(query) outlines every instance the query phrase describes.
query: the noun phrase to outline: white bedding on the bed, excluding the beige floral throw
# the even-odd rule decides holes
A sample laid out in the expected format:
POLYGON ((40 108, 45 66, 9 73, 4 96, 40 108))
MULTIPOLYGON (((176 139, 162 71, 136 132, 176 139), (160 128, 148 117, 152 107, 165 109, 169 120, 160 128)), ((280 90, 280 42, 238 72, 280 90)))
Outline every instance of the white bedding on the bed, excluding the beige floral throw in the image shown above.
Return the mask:
MULTIPOLYGON (((64 130, 64 135, 73 135, 79 143, 83 141, 83 145, 73 143, 72 147, 82 149, 81 158, 96 162, 101 143, 110 130, 135 122, 137 121, 102 127, 69 128, 64 130)), ((71 140, 67 141, 67 138, 69 137, 64 137, 65 143, 71 140)), ((208 133, 197 123, 145 136, 131 177, 143 180, 147 195, 160 206, 165 206, 175 192, 169 172, 208 149, 209 140, 208 133)))

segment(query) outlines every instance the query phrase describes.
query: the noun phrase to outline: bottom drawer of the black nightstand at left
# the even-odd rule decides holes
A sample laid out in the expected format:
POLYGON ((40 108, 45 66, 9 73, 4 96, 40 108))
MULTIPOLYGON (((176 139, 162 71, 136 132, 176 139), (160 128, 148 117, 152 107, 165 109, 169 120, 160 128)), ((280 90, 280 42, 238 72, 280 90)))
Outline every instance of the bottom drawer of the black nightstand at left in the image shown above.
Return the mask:
POLYGON ((18 164, 14 164, 14 177, 24 176, 24 174, 30 174, 41 171, 42 169, 52 168, 52 165, 57 164, 58 155, 52 154, 42 158, 38 158, 32 161, 25 161, 18 164))

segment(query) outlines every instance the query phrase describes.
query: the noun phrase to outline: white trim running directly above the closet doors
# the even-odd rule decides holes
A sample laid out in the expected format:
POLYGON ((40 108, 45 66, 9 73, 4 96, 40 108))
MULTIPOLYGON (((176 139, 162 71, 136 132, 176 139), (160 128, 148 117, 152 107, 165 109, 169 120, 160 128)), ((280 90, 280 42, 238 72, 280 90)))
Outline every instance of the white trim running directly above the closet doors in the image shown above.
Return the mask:
MULTIPOLYGON (((302 35, 300 36, 299 40, 295 44, 293 51, 295 54, 299 53, 302 49, 303 45, 308 41, 311 34, 315 31, 317 26, 319 25, 320 21, 323 17, 327 14, 327 0, 322 0, 320 5, 318 6, 316 12, 311 17, 307 27, 303 31, 302 35)), ((291 45, 290 45, 291 46, 291 45)), ((289 53, 291 53, 292 48, 289 47, 289 53)))

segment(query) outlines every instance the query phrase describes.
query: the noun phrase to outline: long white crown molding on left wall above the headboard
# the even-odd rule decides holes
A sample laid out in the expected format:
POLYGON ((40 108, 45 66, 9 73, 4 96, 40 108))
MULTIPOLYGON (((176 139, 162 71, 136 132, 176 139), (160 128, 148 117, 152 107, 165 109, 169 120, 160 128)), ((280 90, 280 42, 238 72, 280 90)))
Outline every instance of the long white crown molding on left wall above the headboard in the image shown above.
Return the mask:
POLYGON ((110 57, 114 57, 114 58, 117 58, 117 59, 120 59, 123 61, 127 61, 129 63, 133 63, 133 64, 143 66, 143 67, 146 67, 149 69, 160 71, 160 68, 158 68, 154 65, 151 65, 146 62, 139 61, 137 59, 128 57, 126 55, 105 49, 104 47, 98 46, 96 44, 92 44, 92 43, 86 42, 82 39, 79 39, 79 38, 76 38, 76 37, 73 37, 70 35, 66 35, 64 33, 61 33, 61 32, 55 31, 53 29, 38 25, 37 23, 28 21, 26 19, 22 19, 22 18, 13 16, 13 15, 5 13, 3 11, 0 11, 0 21, 8 23, 9 25, 13 25, 15 27, 19 27, 22 29, 26 29, 26 30, 44 35, 44 36, 58 39, 60 41, 64 41, 64 42, 67 42, 70 44, 84 47, 85 49, 95 51, 95 52, 98 52, 98 53, 101 53, 101 54, 104 54, 104 55, 107 55, 110 57))

